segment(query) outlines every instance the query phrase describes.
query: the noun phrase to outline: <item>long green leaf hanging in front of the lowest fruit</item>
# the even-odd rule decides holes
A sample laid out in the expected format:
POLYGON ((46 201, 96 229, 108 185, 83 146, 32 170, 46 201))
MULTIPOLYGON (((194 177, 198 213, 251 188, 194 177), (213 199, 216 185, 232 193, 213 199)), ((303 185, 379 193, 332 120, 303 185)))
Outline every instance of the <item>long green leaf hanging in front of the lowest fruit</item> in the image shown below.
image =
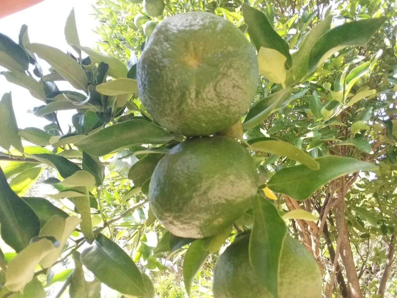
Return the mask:
POLYGON ((252 198, 254 225, 249 241, 249 259, 258 279, 278 298, 278 272, 287 227, 276 207, 258 195, 252 198))

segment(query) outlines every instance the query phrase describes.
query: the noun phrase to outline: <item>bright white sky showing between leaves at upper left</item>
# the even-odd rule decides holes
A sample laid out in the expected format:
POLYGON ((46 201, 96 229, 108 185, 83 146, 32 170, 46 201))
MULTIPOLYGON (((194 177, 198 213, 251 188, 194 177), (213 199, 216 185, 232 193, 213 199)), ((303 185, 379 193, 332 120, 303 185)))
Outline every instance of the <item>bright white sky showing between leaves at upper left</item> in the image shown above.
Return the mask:
MULTIPOLYGON (((18 42, 19 29, 26 24, 32 43, 43 43, 66 52, 71 48, 65 41, 64 27, 66 18, 74 7, 81 44, 95 47, 99 35, 93 31, 96 29, 96 21, 94 16, 90 15, 93 12, 91 5, 95 2, 95 0, 44 0, 35 6, 0 19, 0 32, 18 42)), ((48 73, 48 64, 43 60, 39 61, 44 74, 48 73)), ((0 66, 0 71, 3 70, 5 69, 0 66)), ((56 83, 60 90, 71 90, 71 86, 66 82, 56 83)), ((0 75, 0 97, 10 91, 19 128, 33 126, 42 129, 44 125, 50 123, 44 118, 27 113, 33 107, 42 105, 42 101, 32 97, 26 89, 9 83, 4 76, 0 75)), ((58 119, 64 132, 68 131, 68 124, 71 125, 71 115, 75 113, 75 110, 58 112, 58 119)))

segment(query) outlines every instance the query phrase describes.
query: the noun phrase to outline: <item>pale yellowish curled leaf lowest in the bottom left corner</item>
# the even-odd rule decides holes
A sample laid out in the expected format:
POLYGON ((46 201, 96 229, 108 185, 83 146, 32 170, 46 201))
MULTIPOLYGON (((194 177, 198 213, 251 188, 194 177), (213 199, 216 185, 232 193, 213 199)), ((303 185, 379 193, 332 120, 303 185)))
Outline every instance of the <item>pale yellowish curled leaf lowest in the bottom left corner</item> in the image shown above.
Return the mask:
POLYGON ((33 279, 37 264, 55 249, 46 238, 29 244, 8 263, 4 286, 13 292, 21 290, 33 279))

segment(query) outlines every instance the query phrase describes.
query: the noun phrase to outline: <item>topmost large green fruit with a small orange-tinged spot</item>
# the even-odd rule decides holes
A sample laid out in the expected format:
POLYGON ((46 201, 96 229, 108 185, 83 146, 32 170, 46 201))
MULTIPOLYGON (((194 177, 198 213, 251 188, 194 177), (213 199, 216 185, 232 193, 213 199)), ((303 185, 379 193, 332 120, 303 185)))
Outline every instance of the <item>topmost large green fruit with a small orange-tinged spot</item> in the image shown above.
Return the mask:
POLYGON ((258 61, 245 35, 208 12, 179 14, 158 24, 137 65, 138 92, 165 128, 210 135, 247 111, 258 61))

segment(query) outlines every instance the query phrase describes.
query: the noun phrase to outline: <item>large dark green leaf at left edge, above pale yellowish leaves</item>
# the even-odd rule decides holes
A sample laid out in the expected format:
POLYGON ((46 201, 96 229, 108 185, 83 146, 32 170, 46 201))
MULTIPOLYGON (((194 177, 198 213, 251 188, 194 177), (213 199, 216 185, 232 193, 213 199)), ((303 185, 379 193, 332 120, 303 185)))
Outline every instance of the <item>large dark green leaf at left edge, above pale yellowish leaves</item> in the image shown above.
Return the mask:
POLYGON ((25 248, 39 234, 40 221, 33 210, 7 183, 0 168, 0 232, 1 237, 16 252, 25 248))

